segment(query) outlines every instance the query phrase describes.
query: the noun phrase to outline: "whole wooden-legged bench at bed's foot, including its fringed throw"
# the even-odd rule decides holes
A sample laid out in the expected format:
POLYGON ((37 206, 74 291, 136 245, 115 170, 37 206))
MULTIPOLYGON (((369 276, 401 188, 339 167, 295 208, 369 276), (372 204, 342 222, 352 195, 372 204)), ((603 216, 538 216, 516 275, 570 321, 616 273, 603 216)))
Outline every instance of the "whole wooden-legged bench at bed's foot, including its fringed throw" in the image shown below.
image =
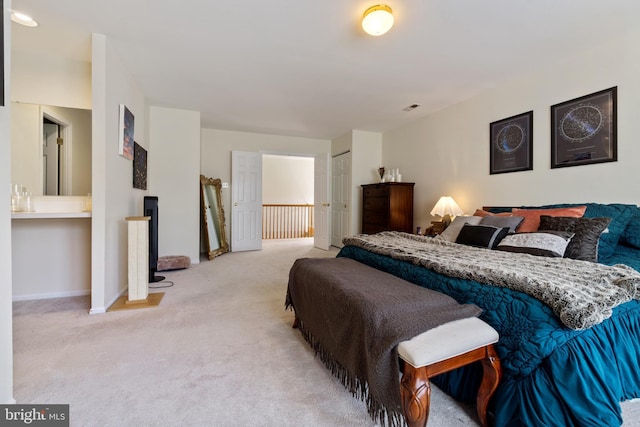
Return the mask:
POLYGON ((426 425, 429 378, 482 361, 477 409, 487 425, 501 367, 498 333, 478 307, 348 258, 296 260, 285 307, 332 374, 389 425, 426 425))

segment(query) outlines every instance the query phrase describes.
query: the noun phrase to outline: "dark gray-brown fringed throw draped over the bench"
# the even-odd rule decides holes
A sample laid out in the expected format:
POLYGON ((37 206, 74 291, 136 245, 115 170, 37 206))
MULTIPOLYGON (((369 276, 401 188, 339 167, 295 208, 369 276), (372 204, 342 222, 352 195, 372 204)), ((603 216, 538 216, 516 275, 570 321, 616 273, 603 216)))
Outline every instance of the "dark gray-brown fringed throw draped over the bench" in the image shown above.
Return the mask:
POLYGON ((333 375, 390 426, 404 425, 397 344, 481 312, 347 258, 296 260, 285 306, 333 375))

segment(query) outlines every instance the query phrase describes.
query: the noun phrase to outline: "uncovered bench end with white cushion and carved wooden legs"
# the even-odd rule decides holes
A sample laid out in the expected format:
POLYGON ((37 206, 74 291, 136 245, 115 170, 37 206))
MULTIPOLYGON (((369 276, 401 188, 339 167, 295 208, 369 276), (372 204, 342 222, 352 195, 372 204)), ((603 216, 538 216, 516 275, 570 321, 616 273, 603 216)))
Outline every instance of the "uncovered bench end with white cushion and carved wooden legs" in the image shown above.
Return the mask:
POLYGON ((427 424, 429 378, 478 360, 482 361, 483 376, 476 410, 482 426, 487 426, 487 406, 501 375, 500 360, 493 348, 498 338, 495 329, 477 317, 470 317, 445 323, 398 344, 403 372, 400 395, 409 427, 427 424))

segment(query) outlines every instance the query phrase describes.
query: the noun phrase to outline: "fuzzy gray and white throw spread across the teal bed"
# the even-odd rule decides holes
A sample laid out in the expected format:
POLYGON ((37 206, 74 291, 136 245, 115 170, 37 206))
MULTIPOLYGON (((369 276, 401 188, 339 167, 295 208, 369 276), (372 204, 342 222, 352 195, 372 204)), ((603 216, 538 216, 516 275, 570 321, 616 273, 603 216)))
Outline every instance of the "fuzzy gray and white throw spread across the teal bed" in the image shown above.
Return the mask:
POLYGON ((614 307, 640 299, 640 273, 622 264, 515 254, 393 231, 347 237, 343 243, 447 276, 526 293, 547 304, 571 329, 596 325, 611 317, 614 307))

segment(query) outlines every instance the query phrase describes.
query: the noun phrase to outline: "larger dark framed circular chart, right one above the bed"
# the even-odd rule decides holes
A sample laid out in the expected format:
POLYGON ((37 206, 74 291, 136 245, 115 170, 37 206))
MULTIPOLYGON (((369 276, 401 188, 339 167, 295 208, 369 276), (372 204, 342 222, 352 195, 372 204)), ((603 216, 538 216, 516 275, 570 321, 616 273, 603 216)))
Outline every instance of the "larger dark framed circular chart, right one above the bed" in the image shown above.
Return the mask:
POLYGON ((618 87, 551 106, 551 168, 618 160, 618 87))

